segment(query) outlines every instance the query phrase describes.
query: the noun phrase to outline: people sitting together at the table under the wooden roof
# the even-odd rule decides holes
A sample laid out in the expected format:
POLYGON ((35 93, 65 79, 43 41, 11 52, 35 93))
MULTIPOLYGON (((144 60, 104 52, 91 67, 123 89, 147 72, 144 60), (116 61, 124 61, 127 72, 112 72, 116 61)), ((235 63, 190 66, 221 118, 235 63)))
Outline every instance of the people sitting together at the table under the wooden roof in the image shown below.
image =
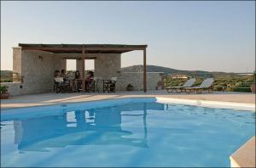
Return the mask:
MULTIPOLYGON (((85 78, 85 89, 88 89, 90 84, 93 82, 93 77, 94 77, 94 73, 93 71, 89 71, 88 75, 85 78)), ((63 78, 63 82, 65 84, 67 84, 67 86, 69 87, 68 90, 71 92, 79 92, 79 88, 82 86, 82 80, 81 80, 81 76, 80 76, 80 72, 79 70, 75 71, 74 74, 74 78, 70 79, 67 76, 67 71, 66 70, 55 70, 55 78, 57 77, 61 77, 63 78)))

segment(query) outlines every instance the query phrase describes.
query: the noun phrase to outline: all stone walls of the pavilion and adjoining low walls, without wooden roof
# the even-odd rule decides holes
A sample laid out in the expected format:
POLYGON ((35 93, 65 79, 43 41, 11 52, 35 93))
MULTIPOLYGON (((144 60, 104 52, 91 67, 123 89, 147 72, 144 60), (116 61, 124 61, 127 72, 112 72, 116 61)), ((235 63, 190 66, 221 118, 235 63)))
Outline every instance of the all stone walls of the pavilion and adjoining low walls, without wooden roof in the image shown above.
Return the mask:
MULTIPOLYGON (((77 54, 56 54, 43 51, 21 50, 13 48, 14 72, 23 76, 22 82, 1 83, 9 87, 11 95, 52 92, 54 86, 54 71, 66 70, 66 59, 77 59, 77 54)), ((95 57, 95 76, 109 79, 117 76, 117 91, 125 91, 131 84, 135 90, 143 90, 143 72, 121 72, 120 53, 86 54, 85 57, 95 57)), ((81 60, 77 60, 77 69, 81 69, 81 60)), ((147 73, 148 90, 154 90, 157 82, 161 80, 159 72, 147 73)), ((102 90, 102 81, 99 82, 102 90)))

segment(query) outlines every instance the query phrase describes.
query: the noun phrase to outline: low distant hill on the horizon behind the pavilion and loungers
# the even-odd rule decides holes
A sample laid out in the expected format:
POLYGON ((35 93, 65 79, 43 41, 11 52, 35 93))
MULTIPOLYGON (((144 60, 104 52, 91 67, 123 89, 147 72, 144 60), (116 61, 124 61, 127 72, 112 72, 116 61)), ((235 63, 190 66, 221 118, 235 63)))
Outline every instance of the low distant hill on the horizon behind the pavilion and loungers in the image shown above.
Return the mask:
MULTIPOLYGON (((143 72, 143 65, 133 65, 122 68, 125 72, 143 72)), ((204 70, 176 70, 163 66, 147 65, 148 72, 163 72, 165 75, 187 75, 187 76, 198 76, 198 77, 213 77, 213 76, 238 76, 235 73, 226 72, 209 72, 204 70)))

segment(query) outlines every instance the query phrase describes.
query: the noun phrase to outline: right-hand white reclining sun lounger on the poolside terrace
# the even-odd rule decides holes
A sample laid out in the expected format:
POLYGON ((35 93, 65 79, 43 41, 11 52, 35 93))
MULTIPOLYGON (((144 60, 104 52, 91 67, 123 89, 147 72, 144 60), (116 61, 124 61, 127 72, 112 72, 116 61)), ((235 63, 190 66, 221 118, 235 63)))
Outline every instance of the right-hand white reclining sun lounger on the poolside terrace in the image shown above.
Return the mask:
POLYGON ((199 87, 184 87, 185 92, 190 93, 195 91, 196 93, 201 93, 202 90, 208 90, 208 92, 213 92, 212 84, 214 82, 213 78, 207 78, 201 82, 199 87))

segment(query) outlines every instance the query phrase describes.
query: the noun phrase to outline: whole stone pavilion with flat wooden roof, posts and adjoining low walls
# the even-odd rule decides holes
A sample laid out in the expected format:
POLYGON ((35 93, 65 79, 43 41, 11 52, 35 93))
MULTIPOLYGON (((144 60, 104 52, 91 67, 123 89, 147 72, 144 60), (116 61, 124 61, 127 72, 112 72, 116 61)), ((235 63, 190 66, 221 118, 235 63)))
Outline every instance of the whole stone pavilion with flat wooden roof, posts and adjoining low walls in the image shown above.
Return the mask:
POLYGON ((131 84, 135 90, 146 92, 155 89, 160 81, 160 73, 146 72, 146 48, 147 45, 20 43, 13 48, 14 82, 1 85, 9 86, 11 95, 53 92, 54 71, 66 70, 67 59, 76 59, 82 78, 84 60, 94 59, 95 76, 102 79, 117 76, 117 91, 124 91, 131 84), (133 50, 143 51, 144 72, 121 71, 121 54, 133 50))

